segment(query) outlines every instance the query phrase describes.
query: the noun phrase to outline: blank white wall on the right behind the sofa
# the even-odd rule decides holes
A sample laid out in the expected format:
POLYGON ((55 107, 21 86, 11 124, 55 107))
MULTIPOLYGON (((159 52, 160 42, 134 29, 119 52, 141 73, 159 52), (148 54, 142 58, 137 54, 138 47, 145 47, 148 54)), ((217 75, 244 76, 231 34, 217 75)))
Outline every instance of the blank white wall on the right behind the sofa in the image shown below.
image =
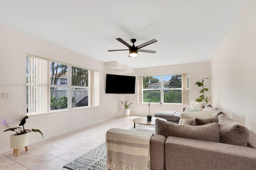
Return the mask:
POLYGON ((248 0, 211 61, 212 103, 256 132, 256 1, 248 0))

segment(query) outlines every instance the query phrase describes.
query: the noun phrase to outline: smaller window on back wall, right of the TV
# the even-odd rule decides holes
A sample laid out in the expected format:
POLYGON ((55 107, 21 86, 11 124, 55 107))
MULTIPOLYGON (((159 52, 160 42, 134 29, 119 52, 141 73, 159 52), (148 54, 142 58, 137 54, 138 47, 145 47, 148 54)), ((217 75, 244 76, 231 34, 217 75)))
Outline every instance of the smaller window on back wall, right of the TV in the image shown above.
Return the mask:
POLYGON ((140 77, 139 85, 140 103, 188 103, 188 74, 140 77))

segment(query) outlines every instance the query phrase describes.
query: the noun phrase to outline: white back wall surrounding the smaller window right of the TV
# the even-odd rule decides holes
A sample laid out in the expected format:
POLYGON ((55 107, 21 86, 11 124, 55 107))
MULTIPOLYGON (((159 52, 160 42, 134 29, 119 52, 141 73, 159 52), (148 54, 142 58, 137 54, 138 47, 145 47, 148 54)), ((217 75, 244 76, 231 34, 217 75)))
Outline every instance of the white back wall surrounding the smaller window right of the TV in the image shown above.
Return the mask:
MULTIPOLYGON (((196 81, 210 76, 210 61, 201 62, 201 63, 190 63, 190 64, 180 64, 180 65, 169 65, 162 67, 150 67, 150 68, 141 68, 134 69, 132 76, 136 76, 136 89, 135 94, 126 94, 125 100, 130 100, 129 102, 133 103, 130 105, 130 114, 132 115, 148 115, 148 103, 138 103, 138 77, 140 76, 154 76, 154 75, 172 75, 172 74, 182 74, 189 73, 189 92, 188 92, 188 102, 196 100, 201 93, 199 91, 202 89, 197 85, 194 85, 196 81)), ((210 81, 205 80, 205 88, 209 88, 209 91, 205 93, 205 96, 208 96, 209 103, 211 103, 210 96, 210 81)), ((154 115, 157 111, 176 111, 182 112, 183 108, 186 105, 181 104, 151 104, 150 105, 150 115, 154 115)))

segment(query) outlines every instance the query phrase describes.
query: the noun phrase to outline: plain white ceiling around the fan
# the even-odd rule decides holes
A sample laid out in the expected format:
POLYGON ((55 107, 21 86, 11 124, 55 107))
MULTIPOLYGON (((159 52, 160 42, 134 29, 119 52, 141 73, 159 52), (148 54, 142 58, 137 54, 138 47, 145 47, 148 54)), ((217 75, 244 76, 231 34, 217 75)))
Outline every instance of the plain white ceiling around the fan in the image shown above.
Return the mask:
MULTIPOLYGON (((0 0, 0 24, 132 68, 210 61, 246 0, 0 0), (128 57, 132 45, 158 40, 128 57)), ((41 56, 44 57, 44 56, 41 56)))

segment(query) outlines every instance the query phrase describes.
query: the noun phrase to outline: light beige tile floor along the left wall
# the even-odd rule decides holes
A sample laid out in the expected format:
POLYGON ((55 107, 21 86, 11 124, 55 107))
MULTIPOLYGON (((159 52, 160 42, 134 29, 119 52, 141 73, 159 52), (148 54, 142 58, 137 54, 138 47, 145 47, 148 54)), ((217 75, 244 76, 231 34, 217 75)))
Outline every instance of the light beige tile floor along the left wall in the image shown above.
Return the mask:
POLYGON ((64 165, 105 142, 108 129, 131 128, 136 117, 120 116, 42 140, 28 145, 28 152, 20 148, 18 156, 13 151, 0 154, 0 170, 65 170, 64 165))

